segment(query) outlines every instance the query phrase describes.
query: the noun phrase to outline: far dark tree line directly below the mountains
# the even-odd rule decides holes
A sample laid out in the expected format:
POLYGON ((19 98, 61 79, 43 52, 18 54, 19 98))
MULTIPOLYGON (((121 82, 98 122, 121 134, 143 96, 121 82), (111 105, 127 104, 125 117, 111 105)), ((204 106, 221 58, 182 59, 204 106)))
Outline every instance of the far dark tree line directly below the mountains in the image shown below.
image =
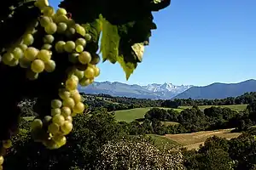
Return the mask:
POLYGON ((108 94, 83 94, 83 96, 84 103, 89 105, 90 111, 94 111, 98 107, 107 108, 108 111, 120 111, 141 107, 178 108, 179 106, 194 105, 247 105, 256 99, 256 92, 226 99, 137 99, 113 97, 108 94))

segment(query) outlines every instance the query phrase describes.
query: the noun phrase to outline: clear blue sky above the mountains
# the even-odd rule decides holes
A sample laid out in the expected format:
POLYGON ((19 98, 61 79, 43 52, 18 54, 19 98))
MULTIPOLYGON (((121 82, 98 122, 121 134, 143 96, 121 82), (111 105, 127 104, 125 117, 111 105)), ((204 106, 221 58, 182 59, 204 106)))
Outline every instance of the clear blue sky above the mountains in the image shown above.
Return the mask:
POLYGON ((203 86, 256 79, 255 6, 255 0, 172 0, 154 13, 158 29, 129 81, 108 61, 96 81, 203 86))

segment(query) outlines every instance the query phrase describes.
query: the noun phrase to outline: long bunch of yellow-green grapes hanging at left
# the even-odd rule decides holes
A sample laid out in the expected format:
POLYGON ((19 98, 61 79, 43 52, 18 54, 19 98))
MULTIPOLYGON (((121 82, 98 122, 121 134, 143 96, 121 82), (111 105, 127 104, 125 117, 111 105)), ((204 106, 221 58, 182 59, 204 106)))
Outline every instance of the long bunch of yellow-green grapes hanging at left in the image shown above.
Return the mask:
MULTIPOLYGON (((33 120, 32 138, 49 149, 66 144, 66 135, 73 129, 73 116, 86 110, 78 87, 88 86, 98 77, 96 67, 100 58, 96 52, 87 50, 91 36, 83 25, 69 18, 65 8, 55 9, 47 0, 38 0, 35 6, 41 15, 35 20, 13 47, 4 51, 2 62, 11 67, 26 70, 26 78, 37 81, 40 76, 54 74, 65 68, 65 78, 58 84, 55 98, 50 99, 50 111, 33 120), (63 60, 63 63, 56 62, 63 60), (68 64, 64 64, 67 60, 68 64)), ((40 89, 38 89, 40 90, 40 89)), ((8 140, 9 141, 9 140, 8 140)), ((10 146, 3 141, 3 148, 10 146), (4 145, 5 144, 5 145, 4 145)), ((0 164, 3 156, 0 156, 0 164)))

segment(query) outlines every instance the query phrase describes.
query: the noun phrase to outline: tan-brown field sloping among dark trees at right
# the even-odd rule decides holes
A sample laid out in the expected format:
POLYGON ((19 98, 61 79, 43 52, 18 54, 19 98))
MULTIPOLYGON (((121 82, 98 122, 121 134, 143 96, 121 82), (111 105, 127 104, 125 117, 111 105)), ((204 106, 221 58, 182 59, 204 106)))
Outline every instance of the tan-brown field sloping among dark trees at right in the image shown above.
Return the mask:
POLYGON ((204 144, 207 138, 218 136, 225 139, 238 137, 241 133, 230 133, 230 129, 221 129, 214 131, 202 131, 197 133, 181 133, 181 134, 166 134, 165 136, 178 144, 182 144, 188 150, 198 149, 200 144, 204 144))

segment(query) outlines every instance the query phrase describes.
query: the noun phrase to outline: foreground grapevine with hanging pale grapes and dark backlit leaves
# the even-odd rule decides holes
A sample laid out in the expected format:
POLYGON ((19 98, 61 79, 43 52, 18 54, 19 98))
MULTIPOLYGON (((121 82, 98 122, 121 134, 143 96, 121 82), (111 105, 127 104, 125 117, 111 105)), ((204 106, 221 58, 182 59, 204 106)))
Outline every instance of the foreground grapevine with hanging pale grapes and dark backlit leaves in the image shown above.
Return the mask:
POLYGON ((0 122, 1 145, 7 148, 17 131, 17 103, 24 97, 38 98, 33 139, 49 149, 66 144, 71 116, 86 111, 78 85, 89 85, 100 74, 96 52, 101 33, 102 60, 119 62, 128 79, 156 29, 152 11, 170 2, 64 0, 56 13, 47 0, 1 5, 0 106, 9 112, 0 122))

